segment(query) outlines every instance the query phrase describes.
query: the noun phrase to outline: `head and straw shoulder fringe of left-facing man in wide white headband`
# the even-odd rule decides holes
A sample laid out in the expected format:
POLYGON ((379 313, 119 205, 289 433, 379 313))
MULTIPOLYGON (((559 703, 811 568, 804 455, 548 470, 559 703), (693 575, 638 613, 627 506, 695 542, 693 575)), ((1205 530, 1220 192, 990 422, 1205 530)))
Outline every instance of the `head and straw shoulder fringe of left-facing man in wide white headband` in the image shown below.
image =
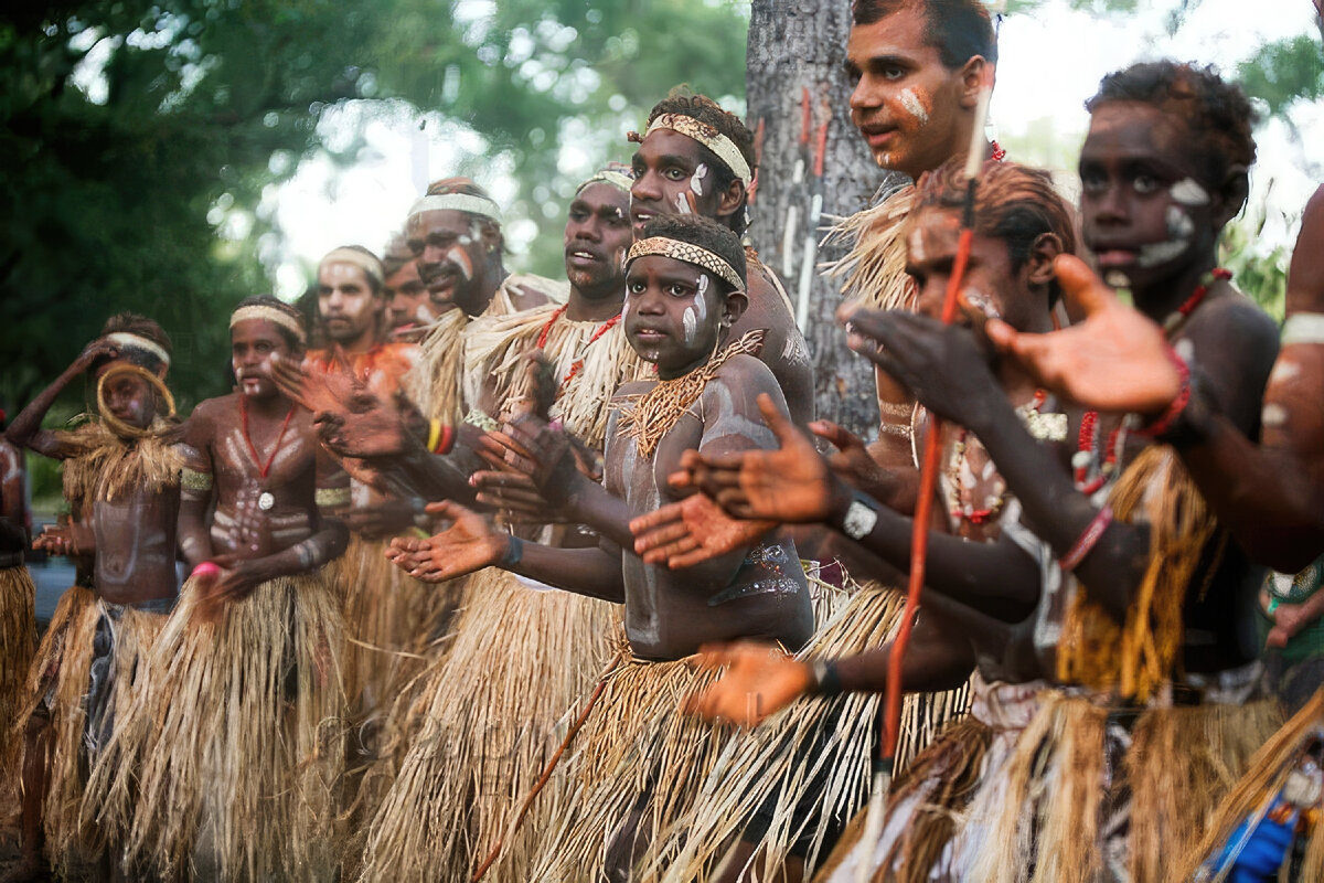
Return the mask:
POLYGON ((405 241, 440 315, 421 344, 417 380, 412 381, 414 401, 426 417, 455 425, 469 414, 462 389, 469 322, 561 302, 564 286, 506 271, 500 212, 467 177, 434 181, 428 188, 409 209, 405 241))

